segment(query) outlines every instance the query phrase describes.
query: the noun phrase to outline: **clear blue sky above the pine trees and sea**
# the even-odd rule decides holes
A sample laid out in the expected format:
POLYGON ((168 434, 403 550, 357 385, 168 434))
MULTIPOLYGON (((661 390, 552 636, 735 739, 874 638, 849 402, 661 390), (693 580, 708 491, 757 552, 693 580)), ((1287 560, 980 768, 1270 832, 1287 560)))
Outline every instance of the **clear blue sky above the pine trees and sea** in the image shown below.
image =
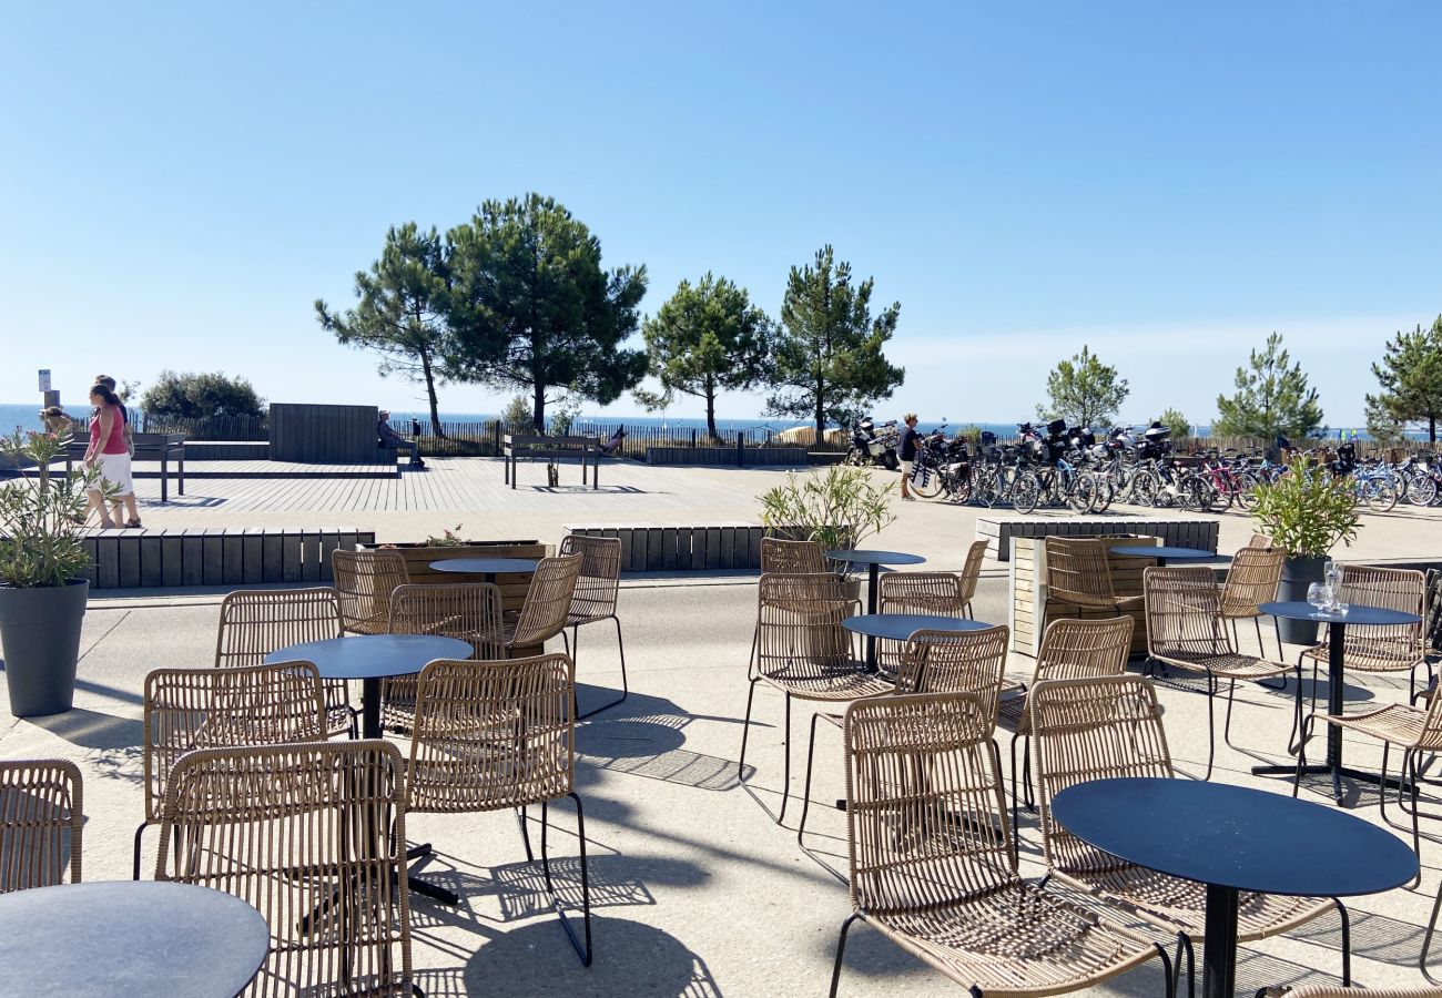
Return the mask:
POLYGON ((14 3, 0 401, 173 366, 417 408, 313 299, 392 224, 539 190, 647 265, 646 312, 714 270, 774 314, 833 244, 901 303, 887 412, 1027 418, 1090 343, 1128 418, 1207 421, 1276 329, 1354 424, 1442 312, 1438 37, 1420 0, 14 3))

